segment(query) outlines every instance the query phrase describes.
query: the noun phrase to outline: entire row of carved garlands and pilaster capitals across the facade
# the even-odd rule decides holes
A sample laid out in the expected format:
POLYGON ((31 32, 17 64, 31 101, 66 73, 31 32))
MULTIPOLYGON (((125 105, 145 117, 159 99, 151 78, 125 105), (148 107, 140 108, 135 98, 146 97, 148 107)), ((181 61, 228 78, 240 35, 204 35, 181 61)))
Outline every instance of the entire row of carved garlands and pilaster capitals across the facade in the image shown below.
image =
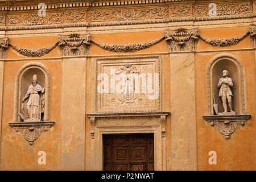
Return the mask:
POLYGON ((197 28, 178 28, 176 30, 167 30, 165 36, 162 38, 134 44, 102 44, 95 40, 90 39, 89 34, 79 35, 59 35, 59 41, 50 47, 28 49, 15 46, 9 43, 8 38, 0 38, 0 59, 5 59, 6 49, 11 46, 15 51, 23 56, 28 57, 40 57, 51 52, 56 46, 61 47, 63 56, 77 56, 77 55, 88 55, 88 46, 90 43, 111 52, 135 52, 142 49, 149 48, 161 42, 164 38, 166 39, 169 47, 169 51, 195 51, 196 42, 200 38, 205 43, 210 44, 215 47, 228 47, 234 46, 245 39, 247 35, 250 34, 253 39, 253 44, 255 44, 254 38, 256 37, 256 27, 251 26, 250 31, 247 31, 242 36, 236 38, 227 39, 208 39, 201 36, 197 28))

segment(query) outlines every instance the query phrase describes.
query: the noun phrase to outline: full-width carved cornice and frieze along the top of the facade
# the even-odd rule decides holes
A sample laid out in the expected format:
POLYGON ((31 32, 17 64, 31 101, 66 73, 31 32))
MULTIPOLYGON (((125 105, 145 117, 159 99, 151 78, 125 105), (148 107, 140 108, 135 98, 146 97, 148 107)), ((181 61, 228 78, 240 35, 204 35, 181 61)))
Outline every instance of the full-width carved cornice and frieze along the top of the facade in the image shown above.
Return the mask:
POLYGON ((217 5, 217 16, 209 16, 209 3, 200 1, 174 3, 168 0, 163 3, 163 1, 153 2, 144 0, 139 2, 135 0, 85 2, 80 0, 53 0, 44 1, 47 6, 47 14, 46 17, 39 17, 36 12, 39 2, 0 2, 0 7, 2 7, 0 10, 0 26, 2 26, 0 30, 30 30, 66 26, 117 26, 256 17, 253 11, 255 3, 249 0, 234 2, 217 1, 215 2, 217 5), (154 3, 159 4, 155 5, 154 3), (149 6, 143 4, 148 4, 149 6), (99 9, 99 6, 102 6, 102 8, 99 9), (16 10, 22 12, 17 13, 16 10), (88 17, 86 14, 88 14, 88 17))

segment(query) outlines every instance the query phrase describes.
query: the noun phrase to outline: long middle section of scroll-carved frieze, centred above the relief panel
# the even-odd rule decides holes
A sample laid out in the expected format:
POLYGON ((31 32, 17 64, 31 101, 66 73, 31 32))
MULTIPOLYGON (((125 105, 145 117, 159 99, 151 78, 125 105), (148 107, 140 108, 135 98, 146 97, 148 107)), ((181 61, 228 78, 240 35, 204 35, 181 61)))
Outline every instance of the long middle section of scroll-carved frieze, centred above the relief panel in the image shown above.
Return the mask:
POLYGON ((89 10, 88 13, 89 22, 109 22, 164 18, 168 18, 167 6, 89 10))

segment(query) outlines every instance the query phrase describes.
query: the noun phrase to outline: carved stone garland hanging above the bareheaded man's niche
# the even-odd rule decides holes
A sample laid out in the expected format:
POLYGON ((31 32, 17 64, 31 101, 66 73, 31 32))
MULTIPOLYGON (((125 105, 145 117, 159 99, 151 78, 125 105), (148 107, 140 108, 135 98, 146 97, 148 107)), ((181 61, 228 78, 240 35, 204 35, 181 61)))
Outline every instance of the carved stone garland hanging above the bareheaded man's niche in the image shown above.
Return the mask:
POLYGON ((250 34, 250 31, 246 32, 242 36, 238 36, 236 38, 228 38, 228 39, 207 39, 203 36, 199 35, 199 37, 207 44, 210 44, 211 46, 215 47, 228 47, 228 46, 234 46, 241 42, 244 38, 246 38, 247 35, 250 34))

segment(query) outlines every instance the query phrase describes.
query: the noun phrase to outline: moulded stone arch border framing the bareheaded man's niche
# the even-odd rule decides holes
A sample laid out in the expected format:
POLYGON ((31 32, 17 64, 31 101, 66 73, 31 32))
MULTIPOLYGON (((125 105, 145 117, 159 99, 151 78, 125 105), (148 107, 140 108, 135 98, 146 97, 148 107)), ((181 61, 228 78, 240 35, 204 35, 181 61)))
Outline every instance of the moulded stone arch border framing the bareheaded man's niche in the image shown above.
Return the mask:
POLYGON ((242 64, 240 61, 236 59, 233 55, 230 54, 221 54, 212 59, 210 61, 208 67, 207 67, 207 108, 208 108, 208 114, 213 115, 213 93, 212 93, 212 68, 214 64, 216 64, 220 60, 230 60, 234 64, 237 65, 238 68, 238 81, 239 81, 239 100, 240 100, 240 113, 245 114, 246 113, 246 95, 245 95, 245 72, 242 64))

